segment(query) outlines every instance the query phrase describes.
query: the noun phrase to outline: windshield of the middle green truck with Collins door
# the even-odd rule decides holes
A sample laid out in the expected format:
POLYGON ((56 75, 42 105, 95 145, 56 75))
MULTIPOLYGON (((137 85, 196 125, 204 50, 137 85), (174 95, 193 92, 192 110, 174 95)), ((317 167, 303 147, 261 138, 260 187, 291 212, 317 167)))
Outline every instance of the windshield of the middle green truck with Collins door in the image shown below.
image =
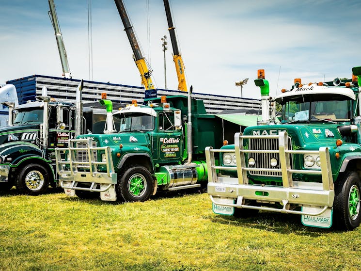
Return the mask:
POLYGON ((152 131, 154 126, 154 116, 144 114, 123 115, 120 121, 119 132, 152 131))

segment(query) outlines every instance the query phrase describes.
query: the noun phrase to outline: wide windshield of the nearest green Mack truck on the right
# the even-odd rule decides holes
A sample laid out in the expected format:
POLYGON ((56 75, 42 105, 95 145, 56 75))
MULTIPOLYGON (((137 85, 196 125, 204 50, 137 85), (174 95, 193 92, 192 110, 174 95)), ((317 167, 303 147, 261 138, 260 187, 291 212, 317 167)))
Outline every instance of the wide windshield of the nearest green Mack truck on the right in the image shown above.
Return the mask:
POLYGON ((282 123, 318 120, 349 121, 352 117, 351 104, 345 96, 333 96, 330 100, 324 100, 324 97, 320 100, 320 96, 298 96, 297 99, 284 101, 282 123))

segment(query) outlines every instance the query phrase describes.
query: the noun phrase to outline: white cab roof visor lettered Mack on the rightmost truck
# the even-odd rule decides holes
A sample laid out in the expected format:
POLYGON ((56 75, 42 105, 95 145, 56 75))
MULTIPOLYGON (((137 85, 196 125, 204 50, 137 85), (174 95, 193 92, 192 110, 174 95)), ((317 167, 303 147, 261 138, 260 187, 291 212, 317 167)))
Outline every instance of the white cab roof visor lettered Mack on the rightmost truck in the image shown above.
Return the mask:
POLYGON ((304 85, 300 88, 295 88, 292 91, 282 93, 281 95, 277 96, 275 100, 277 101, 282 98, 290 97, 290 96, 314 95, 314 94, 344 95, 353 100, 356 100, 355 93, 350 88, 318 86, 317 84, 312 84, 310 86, 304 85))

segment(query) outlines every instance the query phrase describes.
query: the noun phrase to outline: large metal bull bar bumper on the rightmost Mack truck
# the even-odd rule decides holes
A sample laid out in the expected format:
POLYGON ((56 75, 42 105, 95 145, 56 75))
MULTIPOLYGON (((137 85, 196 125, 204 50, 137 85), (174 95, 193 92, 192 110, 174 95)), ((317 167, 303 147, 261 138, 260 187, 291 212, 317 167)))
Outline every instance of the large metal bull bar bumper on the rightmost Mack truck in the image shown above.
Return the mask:
MULTIPOLYGON (((333 180, 331 175, 330 155, 328 148, 321 147, 318 151, 288 150, 287 133, 280 132, 278 136, 264 136, 264 138, 277 138, 279 141, 280 168, 277 171, 282 173, 282 186, 252 185, 249 184, 247 171, 262 171, 267 168, 246 167, 245 153, 259 152, 266 153, 265 150, 244 150, 244 138, 256 138, 257 136, 242 136, 235 134, 235 158, 236 167, 232 169, 237 172, 237 177, 219 176, 217 169, 230 169, 215 165, 214 153, 224 152, 214 150, 212 147, 205 149, 208 168, 208 194, 214 204, 223 207, 238 207, 259 210, 269 210, 282 213, 293 213, 301 215, 320 215, 327 209, 331 209, 334 200, 333 180), (289 154, 314 153, 321 159, 320 170, 295 170, 290 167, 289 154), (321 175, 322 182, 294 181, 292 173, 321 175), (280 204, 282 208, 268 207, 272 204, 280 204), (262 206, 263 204, 263 206, 262 206), (265 206, 266 204, 266 206, 265 206), (313 207, 314 212, 298 211, 294 207, 313 207)), ((259 137, 259 136, 258 136, 259 137)), ((230 150, 226 150, 230 152, 230 150)), ((275 150, 271 150, 275 153, 275 150)), ((271 171, 276 171, 271 169, 271 171)), ((312 178, 310 178, 312 180, 312 178)), ((306 208, 305 208, 306 209, 306 208)), ((312 208, 311 208, 312 209, 312 208)))

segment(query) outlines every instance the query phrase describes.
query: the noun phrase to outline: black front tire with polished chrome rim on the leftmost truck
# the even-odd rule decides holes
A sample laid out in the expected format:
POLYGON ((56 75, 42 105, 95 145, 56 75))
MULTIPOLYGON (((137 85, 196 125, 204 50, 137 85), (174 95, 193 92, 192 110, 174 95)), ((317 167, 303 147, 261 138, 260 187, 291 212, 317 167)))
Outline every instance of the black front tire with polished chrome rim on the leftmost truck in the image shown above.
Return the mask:
POLYGON ((49 174, 47 169, 40 164, 28 164, 19 168, 16 175, 16 189, 20 193, 39 195, 49 188, 49 174))

